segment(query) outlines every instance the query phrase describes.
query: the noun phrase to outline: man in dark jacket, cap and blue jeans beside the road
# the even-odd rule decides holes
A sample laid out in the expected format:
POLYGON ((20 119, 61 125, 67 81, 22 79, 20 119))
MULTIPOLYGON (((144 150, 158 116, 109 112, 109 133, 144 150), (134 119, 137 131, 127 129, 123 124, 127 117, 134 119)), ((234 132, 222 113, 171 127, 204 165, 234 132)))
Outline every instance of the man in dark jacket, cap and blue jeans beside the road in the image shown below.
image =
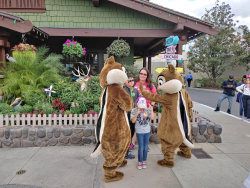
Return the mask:
POLYGON ((228 99, 229 105, 227 113, 231 114, 231 107, 232 107, 233 97, 235 96, 236 87, 237 87, 237 82, 234 80, 234 75, 230 74, 229 79, 225 80, 221 85, 221 88, 224 89, 224 92, 218 100, 217 107, 214 110, 215 112, 220 111, 221 102, 224 99, 228 99))

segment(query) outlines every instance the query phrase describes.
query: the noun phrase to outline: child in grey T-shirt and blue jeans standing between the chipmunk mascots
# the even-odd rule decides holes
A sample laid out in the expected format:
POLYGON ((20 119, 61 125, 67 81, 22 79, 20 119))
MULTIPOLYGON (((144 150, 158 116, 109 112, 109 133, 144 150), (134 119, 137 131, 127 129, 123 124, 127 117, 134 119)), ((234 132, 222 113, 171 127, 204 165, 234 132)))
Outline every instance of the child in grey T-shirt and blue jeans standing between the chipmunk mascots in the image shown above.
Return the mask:
POLYGON ((131 111, 131 120, 135 123, 135 131, 138 139, 138 166, 139 170, 147 168, 148 142, 150 136, 150 120, 154 119, 153 107, 147 109, 146 99, 137 99, 137 108, 131 111))

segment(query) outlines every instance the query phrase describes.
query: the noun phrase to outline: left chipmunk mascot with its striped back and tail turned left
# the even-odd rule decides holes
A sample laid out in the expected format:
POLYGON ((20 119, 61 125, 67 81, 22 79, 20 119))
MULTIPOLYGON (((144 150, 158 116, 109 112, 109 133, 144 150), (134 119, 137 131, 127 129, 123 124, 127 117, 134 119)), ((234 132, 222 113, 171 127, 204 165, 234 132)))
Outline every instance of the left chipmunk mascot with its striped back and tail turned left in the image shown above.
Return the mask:
POLYGON ((97 145, 91 154, 91 157, 97 157, 102 153, 105 158, 105 182, 121 180, 124 174, 116 169, 127 164, 124 157, 131 143, 127 112, 134 106, 122 87, 127 80, 122 65, 116 63, 113 56, 108 58, 100 73, 103 88, 100 96, 101 110, 96 126, 97 145))

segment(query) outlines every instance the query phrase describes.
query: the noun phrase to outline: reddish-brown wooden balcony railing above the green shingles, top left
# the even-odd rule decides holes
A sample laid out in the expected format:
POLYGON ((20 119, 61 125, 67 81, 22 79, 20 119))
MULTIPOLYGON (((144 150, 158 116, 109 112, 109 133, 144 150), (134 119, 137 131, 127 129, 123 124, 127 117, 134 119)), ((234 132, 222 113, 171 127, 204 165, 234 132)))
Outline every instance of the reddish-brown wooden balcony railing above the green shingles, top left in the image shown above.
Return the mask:
POLYGON ((45 9, 45 0, 0 0, 0 9, 45 9))

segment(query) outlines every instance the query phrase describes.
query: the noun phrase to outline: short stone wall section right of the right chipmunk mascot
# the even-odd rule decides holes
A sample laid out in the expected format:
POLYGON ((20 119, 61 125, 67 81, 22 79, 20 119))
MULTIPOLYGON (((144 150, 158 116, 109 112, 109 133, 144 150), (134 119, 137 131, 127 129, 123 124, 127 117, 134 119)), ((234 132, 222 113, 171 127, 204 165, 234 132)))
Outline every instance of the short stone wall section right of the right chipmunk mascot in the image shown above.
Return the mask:
POLYGON ((192 140, 197 143, 222 143, 221 125, 212 122, 211 120, 200 117, 198 123, 191 123, 192 140))

